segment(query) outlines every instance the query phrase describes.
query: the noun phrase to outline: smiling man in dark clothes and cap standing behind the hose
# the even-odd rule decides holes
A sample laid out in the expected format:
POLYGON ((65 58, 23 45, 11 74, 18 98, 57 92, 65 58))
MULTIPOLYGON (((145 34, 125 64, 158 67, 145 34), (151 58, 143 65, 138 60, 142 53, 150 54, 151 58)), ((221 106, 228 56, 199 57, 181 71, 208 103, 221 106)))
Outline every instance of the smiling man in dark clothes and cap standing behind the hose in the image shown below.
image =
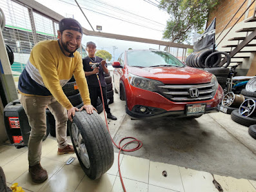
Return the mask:
POLYGON ((101 57, 95 56, 96 45, 92 41, 86 44, 86 51, 88 52, 88 56, 83 59, 84 73, 87 80, 90 99, 92 106, 96 108, 98 97, 101 99, 101 102, 104 102, 105 110, 108 119, 117 120, 115 116, 110 113, 110 108, 108 107, 107 97, 106 97, 106 81, 104 78, 104 73, 108 73, 108 68, 106 68, 106 61, 104 61, 101 57), (101 62, 99 67, 92 68, 94 63, 101 62), (99 81, 101 82, 101 88, 103 90, 103 99, 101 98, 101 89, 99 87, 99 81, 97 79, 97 74, 99 75, 99 81))

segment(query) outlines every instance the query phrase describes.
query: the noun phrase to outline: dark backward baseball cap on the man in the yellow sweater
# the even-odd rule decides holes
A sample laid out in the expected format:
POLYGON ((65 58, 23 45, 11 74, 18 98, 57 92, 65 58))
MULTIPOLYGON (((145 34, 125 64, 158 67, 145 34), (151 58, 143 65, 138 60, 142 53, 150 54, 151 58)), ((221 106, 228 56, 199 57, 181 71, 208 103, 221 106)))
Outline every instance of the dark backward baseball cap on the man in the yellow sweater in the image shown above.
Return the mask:
POLYGON ((83 35, 83 28, 81 24, 72 18, 64 18, 59 21, 59 31, 63 32, 64 30, 74 30, 80 32, 83 35))

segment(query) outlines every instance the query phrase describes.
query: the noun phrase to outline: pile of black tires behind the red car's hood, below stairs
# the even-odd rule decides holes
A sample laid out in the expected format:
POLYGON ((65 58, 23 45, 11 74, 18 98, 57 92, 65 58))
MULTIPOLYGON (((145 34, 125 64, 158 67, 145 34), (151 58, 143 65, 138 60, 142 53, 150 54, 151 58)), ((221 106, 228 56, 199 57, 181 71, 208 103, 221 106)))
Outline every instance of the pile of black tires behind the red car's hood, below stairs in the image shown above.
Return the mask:
POLYGON ((219 84, 224 89, 230 69, 227 68, 230 64, 230 55, 226 52, 215 52, 212 49, 202 50, 201 52, 195 52, 186 58, 186 65, 194 68, 201 68, 206 72, 210 72, 217 77, 219 84), (227 62, 225 65, 221 65, 221 54, 225 55, 227 62))

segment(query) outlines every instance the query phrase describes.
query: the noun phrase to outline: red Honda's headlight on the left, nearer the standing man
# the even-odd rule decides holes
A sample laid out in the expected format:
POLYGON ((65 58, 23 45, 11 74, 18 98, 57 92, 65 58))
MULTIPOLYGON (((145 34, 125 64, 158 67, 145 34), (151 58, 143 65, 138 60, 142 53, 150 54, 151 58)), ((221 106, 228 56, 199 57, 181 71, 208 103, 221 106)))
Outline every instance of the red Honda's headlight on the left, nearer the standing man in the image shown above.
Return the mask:
POLYGON ((148 91, 158 91, 157 86, 164 85, 161 81, 139 77, 137 75, 133 75, 132 73, 128 74, 128 79, 132 86, 148 91))

